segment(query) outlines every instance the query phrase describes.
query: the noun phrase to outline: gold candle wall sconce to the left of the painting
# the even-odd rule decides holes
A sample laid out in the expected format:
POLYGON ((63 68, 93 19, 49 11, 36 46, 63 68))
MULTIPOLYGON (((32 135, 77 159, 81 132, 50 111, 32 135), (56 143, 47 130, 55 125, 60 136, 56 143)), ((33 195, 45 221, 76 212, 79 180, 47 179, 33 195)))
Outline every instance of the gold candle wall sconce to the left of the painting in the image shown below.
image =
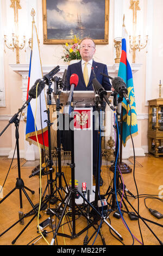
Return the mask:
MULTIPOLYGON (((15 22, 15 31, 12 33, 11 41, 8 41, 7 35, 4 35, 4 45, 7 46, 10 50, 14 52, 16 50, 16 64, 20 63, 20 50, 26 45, 26 36, 23 36, 23 41, 20 42, 18 38, 18 9, 21 9, 20 0, 10 0, 10 8, 14 9, 14 22, 15 22)), ((5 48, 4 48, 5 52, 5 48)), ((26 50, 25 50, 26 52, 26 50)))

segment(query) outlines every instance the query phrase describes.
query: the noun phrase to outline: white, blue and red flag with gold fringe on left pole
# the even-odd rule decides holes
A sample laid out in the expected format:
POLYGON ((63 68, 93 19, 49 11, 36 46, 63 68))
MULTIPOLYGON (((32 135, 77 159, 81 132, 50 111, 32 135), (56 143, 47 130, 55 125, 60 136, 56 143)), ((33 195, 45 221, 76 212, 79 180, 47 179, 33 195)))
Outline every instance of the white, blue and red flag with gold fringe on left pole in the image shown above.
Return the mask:
MULTIPOLYGON (((28 91, 34 85, 37 79, 43 77, 42 66, 39 51, 39 40, 37 38, 37 30, 35 22, 32 22, 32 48, 30 52, 30 64, 29 64, 29 76, 28 76, 28 88, 27 88, 27 100, 28 91)), ((42 90, 40 96, 36 99, 32 99, 29 102, 27 109, 27 124, 26 124, 26 141, 29 141, 37 145, 37 139, 41 148, 48 148, 48 129, 47 113, 44 112, 47 109, 45 91, 42 90), (37 138, 36 138, 37 135, 37 138)))

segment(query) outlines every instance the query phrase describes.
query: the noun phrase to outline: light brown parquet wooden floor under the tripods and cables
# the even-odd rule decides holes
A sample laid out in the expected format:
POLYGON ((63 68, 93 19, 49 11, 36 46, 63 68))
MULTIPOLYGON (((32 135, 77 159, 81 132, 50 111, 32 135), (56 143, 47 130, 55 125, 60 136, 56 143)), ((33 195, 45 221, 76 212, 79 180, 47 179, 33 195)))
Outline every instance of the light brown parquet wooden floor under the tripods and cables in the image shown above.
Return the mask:
MULTIPOLYGON (((9 166, 10 166, 11 160, 8 159, 8 157, 0 157, 0 185, 2 186, 4 183, 4 180, 8 174, 9 166)), ((106 245, 160 245, 159 240, 163 242, 163 218, 158 219, 152 216, 149 212, 149 210, 145 206, 145 197, 141 197, 141 194, 147 195, 161 195, 163 196, 163 159, 155 158, 152 155, 147 155, 146 157, 136 157, 136 165, 135 165, 135 171, 133 170, 133 158, 131 157, 129 159, 129 166, 132 168, 131 173, 123 174, 123 182, 126 185, 126 188, 134 194, 134 196, 137 196, 136 191, 136 185, 139 192, 139 200, 130 197, 129 193, 127 193, 127 199, 130 204, 127 203, 127 200, 124 200, 126 202, 129 211, 134 211, 133 208, 136 211, 139 211, 141 218, 139 221, 131 221, 127 213, 124 212, 123 214, 123 220, 117 219, 113 216, 115 211, 110 211, 109 218, 107 218, 107 223, 102 223, 101 227, 101 234, 103 234, 104 241, 106 245), (139 209, 138 209, 139 206, 139 209), (133 207, 133 208, 132 208, 133 207), (151 220, 154 223, 151 223, 149 221, 151 220), (125 223, 128 227, 124 225, 125 223), (156 225, 156 223, 159 223, 160 225, 156 225), (161 226, 162 225, 162 226, 161 226), (112 231, 112 228, 122 236, 123 241, 121 242, 120 239, 118 239, 118 236, 112 231), (134 239, 133 239, 134 237, 134 239), (134 242, 133 242, 134 241, 134 242)), ((39 196, 39 176, 33 176, 32 178, 29 178, 29 175, 32 174, 32 170, 36 167, 36 165, 33 164, 33 166, 28 166, 28 162, 26 160, 21 159, 21 178, 24 181, 24 184, 29 187, 30 189, 34 190, 35 193, 32 194, 29 191, 27 191, 30 200, 32 200, 33 204, 37 204, 40 202, 40 196, 39 196)), ((70 168, 63 167, 62 171, 65 174, 65 178, 67 180, 67 183, 69 182, 71 176, 70 176, 70 168)), ((106 191, 108 190, 108 187, 110 185, 110 182, 112 180, 113 173, 110 171, 108 164, 104 163, 102 168, 102 177, 104 180, 104 185, 101 187, 101 194, 106 194, 106 191)), ((4 188, 3 188, 3 197, 7 195, 12 188, 15 187, 16 184, 16 178, 18 177, 18 170, 17 170, 17 160, 14 159, 9 175, 7 177, 7 180, 5 182, 4 188)), ((55 179, 55 171, 53 172, 53 179, 55 179)), ((41 179, 41 186, 42 191, 45 190, 47 184, 47 176, 42 176, 41 179)), ((62 182, 63 184, 63 182, 62 182)), ((54 186, 55 187, 55 186, 54 186)), ((48 191, 47 193, 48 194, 48 191)), ((2 196, 2 195, 1 195, 2 196)), ((59 194, 58 194, 59 197, 59 194)), ((105 197, 107 198, 107 202, 110 203, 111 196, 105 197)), ((159 197, 157 197, 159 198, 159 197)), ((121 200, 121 198, 118 198, 118 200, 121 200)), ((59 202, 58 202, 59 204, 59 202)), ((123 203, 122 203, 123 204, 123 203)), ((146 199, 146 205, 148 208, 152 208, 155 210, 158 210, 163 214, 163 204, 160 200, 154 199, 154 198, 148 198, 146 199)), ((55 205, 51 204, 51 208, 55 208, 55 205)), ((108 206, 108 209, 110 207, 108 206)), ((12 245, 12 241, 16 239, 16 237, 20 234, 20 232, 23 230, 24 227, 29 223, 28 227, 22 232, 22 234, 16 239, 15 245, 31 245, 32 240, 35 239, 39 235, 37 233, 37 217, 34 218, 34 220, 30 223, 30 220, 32 220, 32 217, 29 216, 24 218, 24 225, 21 225, 20 222, 15 224, 18 221, 18 211, 23 211, 24 214, 32 210, 32 206, 29 204, 29 201, 26 196, 23 194, 23 208, 20 209, 20 197, 19 192, 16 189, 13 193, 10 194, 10 196, 5 199, 0 204, 0 245, 12 245), (14 226, 12 227, 12 225, 14 226), (11 228, 10 228, 11 227, 11 228), (10 229, 9 229, 10 228, 10 229), (9 229, 9 230, 8 230, 9 229), (8 230, 8 231, 7 231, 8 230), (5 232, 6 231, 6 232, 5 232)), ((126 211, 126 208, 123 208, 122 210, 126 211)), ((46 220, 49 216, 46 214, 46 212, 41 211, 41 218, 39 222, 42 222, 43 220, 46 220)), ((86 236, 87 232, 80 234, 79 232, 82 231, 84 228, 87 227, 87 220, 84 216, 76 216, 76 234, 78 234, 78 237, 74 238, 71 237, 71 217, 67 217, 68 213, 64 215, 64 218, 62 218, 61 223, 59 225, 59 233, 61 234, 68 234, 67 237, 63 237, 61 235, 57 235, 55 237, 55 245, 83 245, 84 237, 86 236), (66 222, 69 222, 68 224, 62 225, 66 222), (71 238, 70 238, 71 237, 71 238)), ((54 218, 54 225, 58 227, 58 221, 59 218, 54 218)), ((101 221, 99 221, 100 224, 101 221)), ((97 225, 96 225, 97 228, 97 225)), ((55 229, 55 227, 54 227, 55 229)), ((52 228, 47 227, 46 230, 48 231, 48 235, 46 237, 46 240, 41 237, 41 239, 35 243, 35 245, 49 245, 51 244, 52 238, 53 238, 53 232, 55 230, 52 230, 52 228)), ((88 230, 88 236, 89 238, 94 233, 95 229, 93 227, 89 228, 88 230)), ((96 233, 97 234, 97 233, 96 233)), ((96 237, 92 237, 91 241, 88 245, 103 245, 102 238, 99 236, 99 233, 96 237)))

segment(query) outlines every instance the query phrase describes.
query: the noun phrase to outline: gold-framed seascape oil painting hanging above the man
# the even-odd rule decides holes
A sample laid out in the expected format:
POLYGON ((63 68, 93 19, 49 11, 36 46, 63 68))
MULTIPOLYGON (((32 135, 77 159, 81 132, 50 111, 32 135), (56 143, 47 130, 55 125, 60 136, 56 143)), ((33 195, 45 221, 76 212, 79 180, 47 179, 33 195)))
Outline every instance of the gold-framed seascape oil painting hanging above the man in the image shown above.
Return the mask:
POLYGON ((42 0, 43 44, 71 42, 87 36, 108 44, 109 0, 42 0))

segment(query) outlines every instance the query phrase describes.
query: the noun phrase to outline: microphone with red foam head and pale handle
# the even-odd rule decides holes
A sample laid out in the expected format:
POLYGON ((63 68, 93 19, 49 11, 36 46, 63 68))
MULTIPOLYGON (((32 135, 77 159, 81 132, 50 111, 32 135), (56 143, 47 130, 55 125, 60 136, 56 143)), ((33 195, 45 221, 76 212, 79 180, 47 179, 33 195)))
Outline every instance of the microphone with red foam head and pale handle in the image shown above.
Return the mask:
POLYGON ((73 90, 75 87, 77 87, 78 85, 78 82, 79 82, 79 77, 77 74, 72 74, 71 77, 70 77, 70 94, 68 96, 68 100, 67 100, 67 104, 66 106, 64 107, 64 114, 70 114, 70 106, 71 106, 71 101, 72 101, 72 97, 73 97, 73 90))

